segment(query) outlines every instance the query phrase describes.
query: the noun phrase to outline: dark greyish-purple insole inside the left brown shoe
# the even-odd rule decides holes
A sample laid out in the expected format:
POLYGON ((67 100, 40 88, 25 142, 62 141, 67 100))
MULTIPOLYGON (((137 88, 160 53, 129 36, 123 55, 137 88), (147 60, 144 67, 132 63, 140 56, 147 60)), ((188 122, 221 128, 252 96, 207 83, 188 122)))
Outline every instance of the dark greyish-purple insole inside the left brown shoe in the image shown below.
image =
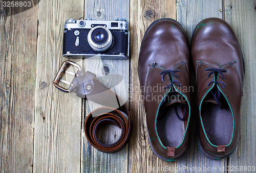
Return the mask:
MULTIPOLYGON (((175 103, 180 117, 183 116, 181 106, 184 104, 175 103)), ((175 113, 174 104, 164 108, 159 112, 161 119, 157 120, 157 134, 164 146, 178 146, 183 139, 185 133, 184 121, 180 120, 175 113)))

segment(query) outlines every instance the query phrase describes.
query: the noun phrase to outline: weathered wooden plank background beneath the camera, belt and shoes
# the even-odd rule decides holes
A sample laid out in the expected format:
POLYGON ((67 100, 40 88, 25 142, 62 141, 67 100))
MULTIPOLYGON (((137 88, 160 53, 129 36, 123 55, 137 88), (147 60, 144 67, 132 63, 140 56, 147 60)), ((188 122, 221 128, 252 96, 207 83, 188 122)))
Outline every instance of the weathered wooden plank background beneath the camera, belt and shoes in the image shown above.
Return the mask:
MULTIPOLYGON (((3 10, 3 1, 0 0, 1 172, 151 172, 154 167, 165 168, 161 171, 164 172, 182 166, 227 172, 228 166, 256 166, 256 1, 42 0, 25 12, 10 10, 8 15, 3 10), (61 92, 52 83, 60 64, 67 60, 61 56, 63 24, 68 18, 80 17, 123 17, 130 22, 130 59, 73 59, 84 71, 96 73, 129 105, 133 134, 129 144, 118 153, 98 152, 84 135, 84 116, 98 105, 61 92), (166 162, 151 151, 137 62, 146 28, 162 17, 177 19, 189 41, 196 24, 207 17, 225 19, 238 37, 246 67, 242 121, 237 149, 224 160, 210 160, 199 152, 195 110, 191 146, 184 158, 166 162), (109 71, 105 72, 103 66, 109 71)), ((120 130, 112 126, 105 131, 108 134, 102 134, 102 140, 108 142, 120 135, 120 130)))

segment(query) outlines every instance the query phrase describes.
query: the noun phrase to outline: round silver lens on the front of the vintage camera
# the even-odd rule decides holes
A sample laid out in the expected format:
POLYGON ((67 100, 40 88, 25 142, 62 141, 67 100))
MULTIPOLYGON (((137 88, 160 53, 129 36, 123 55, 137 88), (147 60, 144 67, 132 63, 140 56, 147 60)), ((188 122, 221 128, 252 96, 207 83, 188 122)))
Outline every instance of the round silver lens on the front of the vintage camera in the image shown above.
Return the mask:
POLYGON ((103 52, 110 48, 113 39, 108 28, 97 26, 89 31, 87 40, 94 51, 103 52))

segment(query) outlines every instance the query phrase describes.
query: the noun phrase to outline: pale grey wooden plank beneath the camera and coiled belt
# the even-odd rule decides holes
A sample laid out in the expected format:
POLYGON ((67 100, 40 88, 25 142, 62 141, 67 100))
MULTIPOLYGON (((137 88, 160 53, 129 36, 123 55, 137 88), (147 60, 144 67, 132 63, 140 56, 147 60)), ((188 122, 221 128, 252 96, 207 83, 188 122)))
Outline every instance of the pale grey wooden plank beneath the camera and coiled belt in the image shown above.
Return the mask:
MULTIPOLYGON (((129 20, 129 0, 94 0, 85 1, 84 18, 93 20, 115 20, 126 18, 129 20)), ((127 60, 83 60, 84 71, 91 71, 96 74, 99 81, 109 86, 124 101, 129 97, 129 59, 127 60), (104 72, 109 69, 109 73, 104 72)), ((128 102, 126 102, 128 104, 128 102)), ((102 107, 91 101, 86 101, 86 115, 94 109, 102 107)), ((83 118, 84 119, 84 118, 83 118)), ((107 143, 113 143, 120 136, 121 130, 114 126, 106 126, 101 129, 103 133, 99 138, 107 143)), ((84 139, 84 137, 83 137, 84 139)), ((128 168, 128 147, 123 150, 106 154, 90 147, 87 140, 82 143, 81 171, 84 172, 127 172, 128 168), (89 159, 91 158, 91 159, 89 159)))

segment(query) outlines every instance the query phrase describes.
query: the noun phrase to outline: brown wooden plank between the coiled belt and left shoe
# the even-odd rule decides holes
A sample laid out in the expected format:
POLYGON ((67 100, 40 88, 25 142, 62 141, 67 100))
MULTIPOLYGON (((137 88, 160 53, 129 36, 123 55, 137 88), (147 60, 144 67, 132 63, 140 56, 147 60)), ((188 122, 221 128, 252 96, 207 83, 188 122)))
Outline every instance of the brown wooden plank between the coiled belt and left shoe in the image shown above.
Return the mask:
POLYGON ((130 66, 130 113, 132 115, 133 134, 130 141, 131 172, 150 172, 153 168, 168 170, 176 167, 176 162, 159 159, 151 150, 148 142, 146 117, 140 94, 138 78, 138 57, 142 38, 150 24, 156 19, 169 17, 176 19, 176 1, 131 1, 131 66, 130 66))

